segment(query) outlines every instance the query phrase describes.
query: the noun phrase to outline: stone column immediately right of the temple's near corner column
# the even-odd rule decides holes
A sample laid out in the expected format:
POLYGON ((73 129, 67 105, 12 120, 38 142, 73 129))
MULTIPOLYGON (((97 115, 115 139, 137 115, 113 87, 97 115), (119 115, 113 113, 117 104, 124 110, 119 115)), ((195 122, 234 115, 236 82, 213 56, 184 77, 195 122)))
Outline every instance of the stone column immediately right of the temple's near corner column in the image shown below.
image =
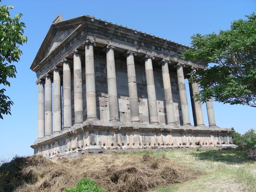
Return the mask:
POLYGON ((118 99, 116 88, 116 66, 114 58, 114 46, 107 46, 107 76, 108 76, 108 106, 109 121, 120 121, 118 116, 118 99))

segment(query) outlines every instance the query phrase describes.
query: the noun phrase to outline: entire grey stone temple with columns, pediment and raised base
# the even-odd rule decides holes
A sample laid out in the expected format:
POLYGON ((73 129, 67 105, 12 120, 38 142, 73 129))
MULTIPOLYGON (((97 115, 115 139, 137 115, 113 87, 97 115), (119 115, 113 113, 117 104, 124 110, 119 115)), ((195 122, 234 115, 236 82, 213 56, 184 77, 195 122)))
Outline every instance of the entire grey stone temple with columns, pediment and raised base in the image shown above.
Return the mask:
POLYGON ((184 79, 206 68, 180 58, 188 48, 88 15, 58 16, 30 67, 38 78, 34 154, 234 146, 234 131, 216 126, 212 101, 204 122, 198 84, 187 98, 184 79))

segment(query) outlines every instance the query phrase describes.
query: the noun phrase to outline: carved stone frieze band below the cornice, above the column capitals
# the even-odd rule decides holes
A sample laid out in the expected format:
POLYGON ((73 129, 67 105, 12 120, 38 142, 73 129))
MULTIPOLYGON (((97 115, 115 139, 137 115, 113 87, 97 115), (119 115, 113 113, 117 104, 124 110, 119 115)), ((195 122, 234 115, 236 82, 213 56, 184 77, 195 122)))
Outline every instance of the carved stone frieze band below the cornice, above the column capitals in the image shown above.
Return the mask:
MULTIPOLYGON (((119 36, 119 38, 115 37, 114 33, 111 33, 112 34, 112 38, 108 38, 106 37, 106 34, 104 34, 102 31, 100 31, 99 29, 97 29, 98 31, 95 31, 94 33, 94 30, 89 27, 86 28, 86 26, 80 26, 79 29, 77 29, 77 31, 72 34, 71 36, 69 36, 65 42, 62 42, 58 47, 56 47, 55 50, 53 50, 50 55, 48 55, 41 63, 40 63, 40 68, 38 68, 37 71, 37 75, 38 77, 41 76, 42 74, 42 71, 44 71, 46 68, 49 68, 49 67, 52 67, 58 63, 60 63, 61 59, 63 57, 66 57, 68 54, 70 54, 71 51, 70 48, 73 47, 73 48, 76 48, 80 45, 83 44, 82 40, 88 36, 88 35, 93 35, 94 38, 96 38, 96 42, 101 42, 101 43, 108 43, 108 42, 112 42, 113 40, 120 40, 122 42, 127 42, 127 38, 122 38, 121 36, 119 36), (75 39, 75 40, 74 40, 75 39), (72 43, 70 43, 72 42, 72 43), (69 52, 69 53, 68 53, 69 52), (66 54, 66 55, 65 55, 66 54), (42 65, 42 63, 44 63, 42 65)), ((108 32, 108 34, 110 34, 108 32)), ((153 44, 156 44, 156 46, 153 46, 152 47, 152 44, 151 42, 147 42, 147 43, 144 43, 142 42, 142 40, 146 40, 146 39, 139 39, 138 41, 136 41, 137 44, 135 44, 135 41, 132 40, 132 41, 129 41, 127 43, 129 43, 130 45, 125 45, 125 46, 121 46, 121 48, 125 48, 127 47, 127 49, 132 48, 132 49, 136 49, 136 50, 140 50, 139 47, 141 48, 148 48, 148 49, 152 49, 154 48, 154 50, 156 50, 157 52, 157 56, 158 57, 169 57, 169 56, 172 56, 174 57, 174 61, 179 61, 180 58, 178 56, 179 53, 178 52, 178 49, 177 48, 169 48, 171 47, 170 46, 170 43, 169 44, 166 44, 166 41, 163 41, 162 42, 162 45, 160 46, 159 44, 156 44, 156 43, 153 43, 153 44)), ((174 44, 176 47, 177 46, 180 46, 178 44, 174 44)), ((139 51, 141 52, 141 51, 139 51)), ((144 52, 144 50, 142 49, 142 52, 144 52)), ((180 51, 179 51, 180 52, 180 51)))

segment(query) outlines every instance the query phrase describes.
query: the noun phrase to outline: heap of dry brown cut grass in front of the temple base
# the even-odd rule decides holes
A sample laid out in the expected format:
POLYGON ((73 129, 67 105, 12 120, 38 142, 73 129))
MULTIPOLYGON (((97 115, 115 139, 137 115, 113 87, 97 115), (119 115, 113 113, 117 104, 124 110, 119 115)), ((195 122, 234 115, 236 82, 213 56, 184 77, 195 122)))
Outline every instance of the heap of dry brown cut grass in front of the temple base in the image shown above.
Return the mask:
POLYGON ((202 173, 164 156, 101 154, 55 162, 42 156, 15 158, 0 167, 0 174, 0 191, 6 192, 61 192, 83 177, 92 178, 109 192, 143 192, 182 183, 202 173))

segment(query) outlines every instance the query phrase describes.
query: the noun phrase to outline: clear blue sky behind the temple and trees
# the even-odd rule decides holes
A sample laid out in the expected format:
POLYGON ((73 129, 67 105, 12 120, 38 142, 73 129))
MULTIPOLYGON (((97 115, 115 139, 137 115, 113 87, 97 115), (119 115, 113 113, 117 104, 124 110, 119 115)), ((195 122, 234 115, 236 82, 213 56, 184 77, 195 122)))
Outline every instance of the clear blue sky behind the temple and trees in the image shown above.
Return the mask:
MULTIPOLYGON (((37 139, 38 87, 36 74, 29 68, 58 14, 64 20, 88 14, 190 45, 192 34, 226 30, 230 22, 246 19, 244 15, 256 11, 255 0, 2 0, 0 4, 14 6, 12 17, 23 14, 28 36, 28 44, 21 47, 23 55, 16 64, 17 78, 10 80, 11 87, 6 91, 14 102, 12 116, 0 120, 0 158, 10 159, 16 154, 33 154, 30 145, 37 139)), ((203 109, 208 124, 205 104, 203 109)), ((255 108, 214 102, 214 110, 216 124, 222 128, 234 127, 241 134, 256 129, 255 108)), ((190 118, 193 122, 191 111, 190 118)))

